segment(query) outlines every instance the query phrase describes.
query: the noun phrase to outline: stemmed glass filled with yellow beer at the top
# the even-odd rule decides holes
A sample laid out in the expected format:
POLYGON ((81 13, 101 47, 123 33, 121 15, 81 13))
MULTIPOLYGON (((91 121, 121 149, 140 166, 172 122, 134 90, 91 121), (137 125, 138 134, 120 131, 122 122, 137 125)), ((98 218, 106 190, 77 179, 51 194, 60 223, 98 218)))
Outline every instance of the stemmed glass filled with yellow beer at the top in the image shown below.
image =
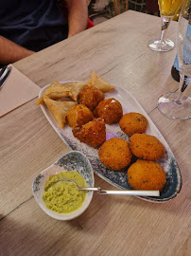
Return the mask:
POLYGON ((150 49, 155 51, 168 51, 173 49, 174 43, 169 39, 165 39, 165 32, 170 21, 181 8, 182 2, 183 0, 158 0, 162 19, 161 38, 150 40, 148 42, 150 49))

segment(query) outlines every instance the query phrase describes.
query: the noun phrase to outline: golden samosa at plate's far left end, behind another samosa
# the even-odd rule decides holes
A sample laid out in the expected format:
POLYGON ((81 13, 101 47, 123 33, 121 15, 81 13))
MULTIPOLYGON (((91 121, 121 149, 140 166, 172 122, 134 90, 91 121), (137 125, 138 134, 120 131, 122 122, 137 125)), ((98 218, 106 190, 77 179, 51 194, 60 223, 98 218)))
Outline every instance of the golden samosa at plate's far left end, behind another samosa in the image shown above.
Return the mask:
POLYGON ((43 104, 43 96, 51 100, 58 100, 70 96, 70 89, 64 87, 60 82, 52 82, 43 92, 43 95, 36 101, 36 105, 43 104))

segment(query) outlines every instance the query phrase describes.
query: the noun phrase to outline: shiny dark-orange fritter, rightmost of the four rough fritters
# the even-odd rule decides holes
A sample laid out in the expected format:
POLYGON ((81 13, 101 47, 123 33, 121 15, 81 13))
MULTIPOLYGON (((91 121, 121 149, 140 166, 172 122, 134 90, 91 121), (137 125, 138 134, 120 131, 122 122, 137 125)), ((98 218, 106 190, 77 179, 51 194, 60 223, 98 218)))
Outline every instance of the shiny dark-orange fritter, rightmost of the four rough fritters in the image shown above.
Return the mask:
POLYGON ((122 105, 115 99, 100 101, 94 111, 96 118, 102 118, 106 123, 117 123, 123 116, 122 105))

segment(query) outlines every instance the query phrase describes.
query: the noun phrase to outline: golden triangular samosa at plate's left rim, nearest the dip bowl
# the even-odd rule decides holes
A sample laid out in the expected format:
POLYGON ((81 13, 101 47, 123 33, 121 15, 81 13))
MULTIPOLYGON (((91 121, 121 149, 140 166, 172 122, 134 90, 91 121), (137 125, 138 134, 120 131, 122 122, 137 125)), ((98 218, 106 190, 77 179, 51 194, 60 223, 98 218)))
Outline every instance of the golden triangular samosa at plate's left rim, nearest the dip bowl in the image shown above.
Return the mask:
POLYGON ((43 97, 43 101, 61 128, 63 128, 66 123, 66 115, 68 111, 78 104, 78 102, 75 101, 53 101, 47 96, 43 97))

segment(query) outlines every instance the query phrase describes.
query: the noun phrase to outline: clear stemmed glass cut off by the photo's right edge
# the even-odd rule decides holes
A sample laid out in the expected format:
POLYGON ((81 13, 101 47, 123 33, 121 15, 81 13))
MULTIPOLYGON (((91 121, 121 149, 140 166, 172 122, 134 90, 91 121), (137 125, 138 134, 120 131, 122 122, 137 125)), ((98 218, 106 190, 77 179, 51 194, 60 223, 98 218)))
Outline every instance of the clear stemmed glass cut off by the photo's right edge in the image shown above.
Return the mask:
POLYGON ((163 95, 158 101, 158 108, 171 119, 190 119, 191 98, 185 95, 185 89, 191 82, 191 0, 184 0, 182 5, 177 47, 180 69, 179 89, 177 92, 163 95))

